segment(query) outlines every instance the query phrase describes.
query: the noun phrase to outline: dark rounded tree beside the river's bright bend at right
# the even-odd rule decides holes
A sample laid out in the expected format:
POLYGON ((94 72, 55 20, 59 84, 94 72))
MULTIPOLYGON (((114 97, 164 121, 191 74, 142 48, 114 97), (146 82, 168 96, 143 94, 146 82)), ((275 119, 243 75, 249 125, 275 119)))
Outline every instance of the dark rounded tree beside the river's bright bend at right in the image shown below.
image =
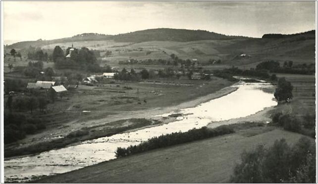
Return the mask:
POLYGON ((293 98, 293 86, 290 82, 286 81, 285 78, 279 78, 277 88, 274 92, 275 99, 282 101, 293 98))

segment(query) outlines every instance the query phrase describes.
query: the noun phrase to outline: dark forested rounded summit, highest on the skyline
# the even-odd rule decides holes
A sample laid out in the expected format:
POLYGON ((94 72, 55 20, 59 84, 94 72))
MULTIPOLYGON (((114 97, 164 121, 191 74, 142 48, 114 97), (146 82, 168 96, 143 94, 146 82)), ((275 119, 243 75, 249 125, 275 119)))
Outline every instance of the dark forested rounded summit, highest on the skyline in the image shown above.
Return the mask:
POLYGON ((149 41, 191 42, 199 40, 229 40, 243 38, 247 37, 226 36, 203 30, 159 28, 116 35, 113 37, 113 40, 116 42, 140 43, 149 41))

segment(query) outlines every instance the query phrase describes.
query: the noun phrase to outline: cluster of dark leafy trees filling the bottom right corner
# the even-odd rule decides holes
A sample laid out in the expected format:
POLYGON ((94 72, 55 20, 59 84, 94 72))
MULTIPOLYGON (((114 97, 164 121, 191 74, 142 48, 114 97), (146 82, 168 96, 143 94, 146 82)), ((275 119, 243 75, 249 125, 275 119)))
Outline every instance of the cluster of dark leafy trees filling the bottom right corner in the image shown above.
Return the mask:
POLYGON ((268 148, 259 145, 243 152, 242 162, 234 168, 232 183, 315 183, 316 147, 308 138, 294 145, 285 139, 276 140, 268 148))

